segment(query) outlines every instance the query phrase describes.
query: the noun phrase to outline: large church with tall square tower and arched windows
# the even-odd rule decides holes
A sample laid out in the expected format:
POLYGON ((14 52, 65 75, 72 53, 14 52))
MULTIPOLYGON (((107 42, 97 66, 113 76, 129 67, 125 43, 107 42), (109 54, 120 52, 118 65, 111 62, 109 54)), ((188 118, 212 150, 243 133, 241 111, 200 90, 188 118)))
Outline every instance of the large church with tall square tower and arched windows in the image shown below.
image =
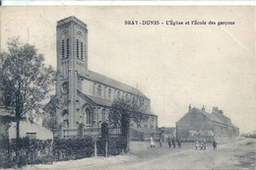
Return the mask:
POLYGON ((143 103, 147 120, 140 127, 156 131, 158 116, 151 112, 150 98, 135 87, 89 70, 87 25, 72 16, 58 21, 56 31, 56 115, 63 125, 62 137, 76 136, 80 124, 87 132, 109 123, 109 107, 120 97, 143 103))

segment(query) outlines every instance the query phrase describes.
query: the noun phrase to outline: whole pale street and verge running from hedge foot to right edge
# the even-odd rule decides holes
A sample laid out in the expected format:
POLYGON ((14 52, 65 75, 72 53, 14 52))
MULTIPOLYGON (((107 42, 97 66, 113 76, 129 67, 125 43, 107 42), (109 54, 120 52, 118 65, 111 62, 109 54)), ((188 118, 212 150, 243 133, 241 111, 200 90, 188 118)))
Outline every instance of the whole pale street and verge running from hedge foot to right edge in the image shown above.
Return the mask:
MULTIPOLYGON (((119 169, 255 169, 256 139, 239 138, 218 143, 217 150, 207 143, 206 150, 196 150, 193 142, 182 148, 169 148, 150 142, 131 142, 130 153, 109 157, 90 157, 53 164, 28 165, 24 170, 119 170, 119 169)), ((14 170, 13 168, 9 170, 14 170)))

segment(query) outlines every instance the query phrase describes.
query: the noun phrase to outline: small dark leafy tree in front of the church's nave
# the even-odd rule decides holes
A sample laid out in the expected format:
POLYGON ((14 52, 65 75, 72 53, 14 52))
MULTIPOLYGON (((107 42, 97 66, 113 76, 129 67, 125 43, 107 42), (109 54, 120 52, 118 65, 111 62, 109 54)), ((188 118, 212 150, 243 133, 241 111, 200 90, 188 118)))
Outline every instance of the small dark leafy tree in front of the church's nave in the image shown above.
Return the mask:
POLYGON ((131 121, 134 121, 137 127, 140 127, 141 121, 149 118, 146 114, 146 110, 147 108, 144 105, 143 98, 140 96, 138 99, 134 100, 117 98, 110 107, 110 124, 112 124, 114 128, 121 128, 125 153, 129 151, 131 121))

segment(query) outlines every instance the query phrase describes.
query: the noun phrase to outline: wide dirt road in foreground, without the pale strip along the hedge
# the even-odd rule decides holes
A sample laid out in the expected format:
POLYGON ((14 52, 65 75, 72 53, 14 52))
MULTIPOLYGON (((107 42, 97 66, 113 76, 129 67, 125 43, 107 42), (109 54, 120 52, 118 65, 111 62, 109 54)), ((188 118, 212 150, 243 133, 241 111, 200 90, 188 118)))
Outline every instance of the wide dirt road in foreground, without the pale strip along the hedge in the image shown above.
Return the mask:
POLYGON ((167 143, 150 148, 145 142, 131 143, 131 156, 136 159, 86 169, 255 169, 256 140, 240 139, 218 144, 213 150, 196 150, 194 143, 182 143, 182 148, 169 148, 167 143))

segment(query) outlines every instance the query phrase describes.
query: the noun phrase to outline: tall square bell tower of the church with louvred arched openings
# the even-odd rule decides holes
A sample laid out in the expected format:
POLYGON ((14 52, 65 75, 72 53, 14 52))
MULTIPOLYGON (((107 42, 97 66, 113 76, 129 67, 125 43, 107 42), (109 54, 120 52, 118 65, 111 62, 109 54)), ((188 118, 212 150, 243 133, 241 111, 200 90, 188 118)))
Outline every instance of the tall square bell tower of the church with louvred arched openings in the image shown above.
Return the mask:
POLYGON ((73 16, 58 21, 56 29, 56 94, 60 97, 57 116, 66 129, 76 129, 78 72, 88 74, 88 29, 73 16))

